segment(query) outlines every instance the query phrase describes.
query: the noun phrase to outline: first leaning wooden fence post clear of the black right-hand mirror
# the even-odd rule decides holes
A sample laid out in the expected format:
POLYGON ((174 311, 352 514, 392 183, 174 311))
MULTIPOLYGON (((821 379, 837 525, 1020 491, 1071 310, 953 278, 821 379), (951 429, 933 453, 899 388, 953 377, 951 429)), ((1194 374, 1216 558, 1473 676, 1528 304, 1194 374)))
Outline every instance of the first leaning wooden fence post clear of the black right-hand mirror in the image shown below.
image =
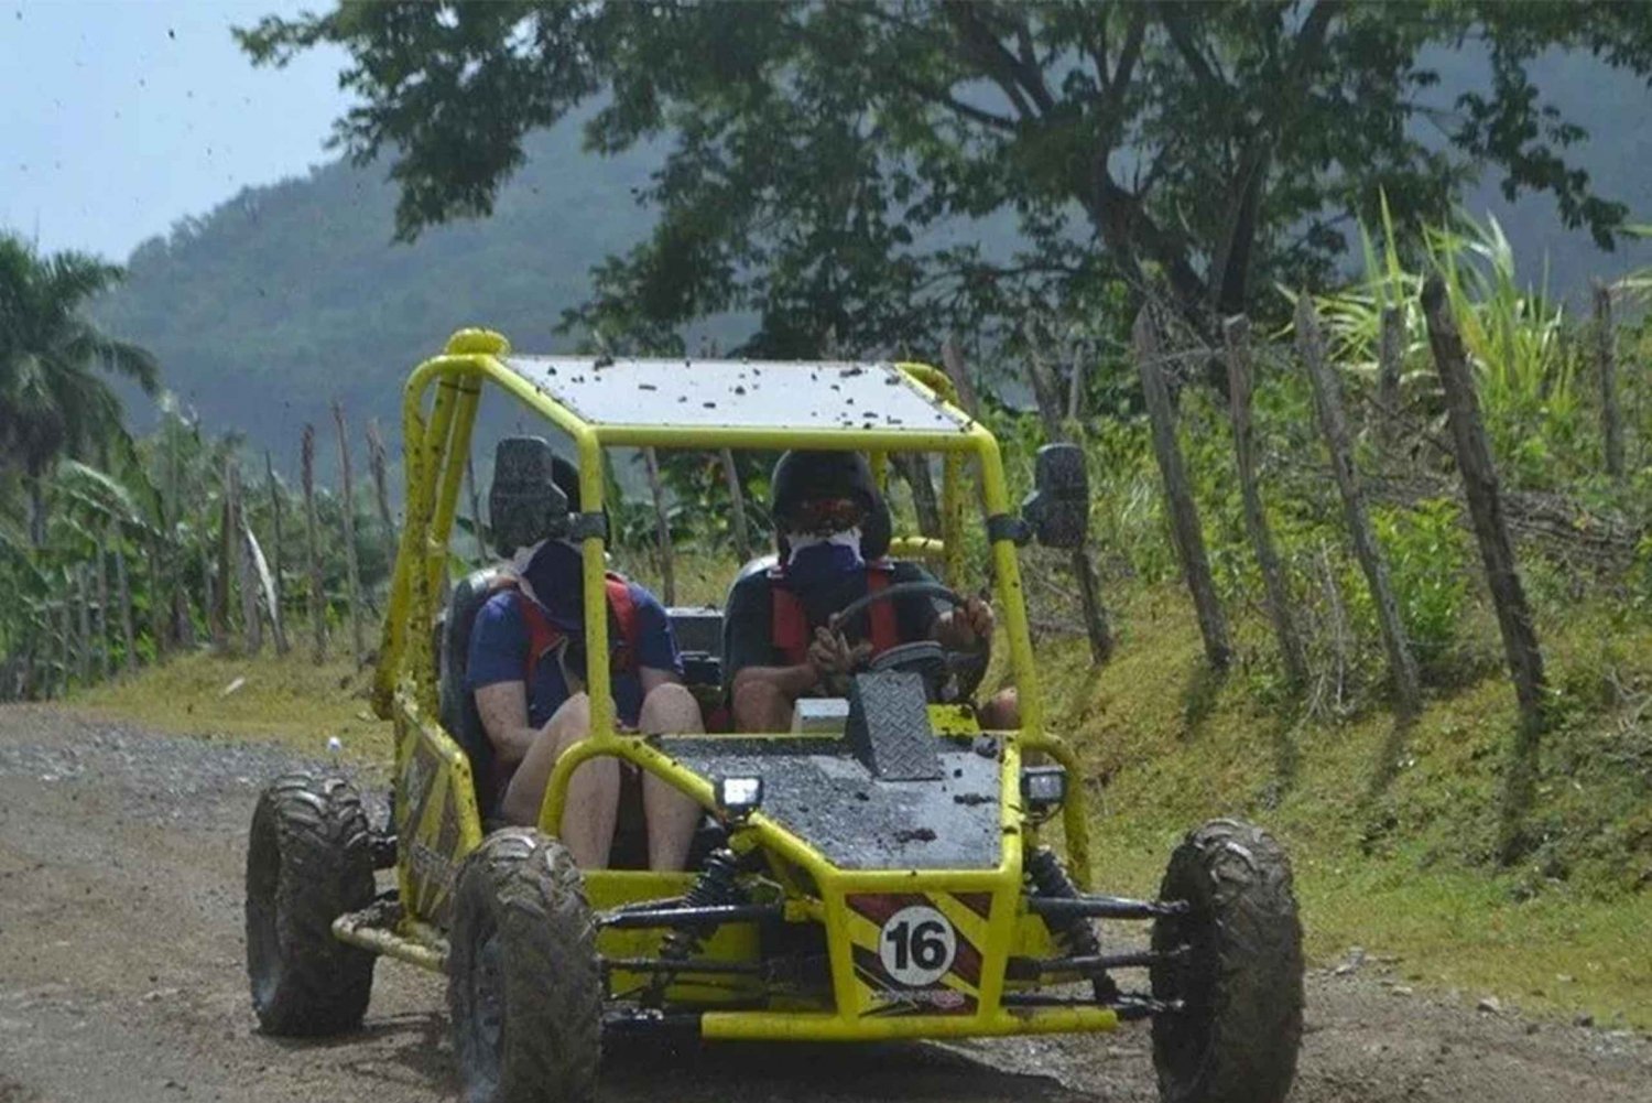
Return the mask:
POLYGON ((1170 407, 1170 389, 1160 364, 1163 356, 1160 329, 1153 319, 1151 304, 1137 314, 1132 331, 1137 370, 1142 374, 1142 394, 1146 397, 1148 418, 1153 423, 1153 451, 1165 478, 1165 499, 1170 503, 1170 531, 1176 544, 1181 574, 1193 594, 1193 607, 1199 617, 1199 635, 1204 637, 1204 657, 1213 670, 1227 670, 1232 647, 1227 643, 1227 618, 1216 597, 1216 580, 1204 554, 1204 531, 1199 528, 1199 509, 1188 486, 1188 473, 1181 463, 1181 446, 1176 443, 1176 420, 1170 407))

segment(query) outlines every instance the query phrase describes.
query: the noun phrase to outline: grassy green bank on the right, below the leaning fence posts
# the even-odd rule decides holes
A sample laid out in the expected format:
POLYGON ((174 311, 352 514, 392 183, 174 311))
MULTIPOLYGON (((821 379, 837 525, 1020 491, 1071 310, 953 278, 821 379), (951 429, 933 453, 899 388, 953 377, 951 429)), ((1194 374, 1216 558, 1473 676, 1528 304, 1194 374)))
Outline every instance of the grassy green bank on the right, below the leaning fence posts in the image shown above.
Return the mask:
POLYGON ((1581 670, 1609 666, 1619 652, 1652 655, 1645 628, 1626 638, 1584 614, 1548 640, 1563 719, 1545 746, 1533 815, 1546 837, 1503 870, 1492 853, 1515 708, 1500 671, 1432 700, 1391 784, 1373 792, 1393 734, 1384 713, 1294 731, 1256 703, 1242 670, 1201 685, 1181 594, 1142 595, 1120 620, 1130 638, 1100 678, 1082 642, 1041 648, 1052 724, 1105 781, 1095 812, 1104 888, 1151 893, 1188 827, 1239 815, 1290 852, 1318 964, 1363 946, 1398 957, 1408 984, 1437 994, 1495 994, 1533 1014, 1588 1010, 1652 1029, 1652 777, 1647 759, 1637 774, 1607 754, 1634 739, 1644 752, 1645 736, 1626 723, 1631 706, 1573 696, 1573 683, 1588 681, 1581 670), (1287 736, 1294 754, 1280 751, 1287 736))

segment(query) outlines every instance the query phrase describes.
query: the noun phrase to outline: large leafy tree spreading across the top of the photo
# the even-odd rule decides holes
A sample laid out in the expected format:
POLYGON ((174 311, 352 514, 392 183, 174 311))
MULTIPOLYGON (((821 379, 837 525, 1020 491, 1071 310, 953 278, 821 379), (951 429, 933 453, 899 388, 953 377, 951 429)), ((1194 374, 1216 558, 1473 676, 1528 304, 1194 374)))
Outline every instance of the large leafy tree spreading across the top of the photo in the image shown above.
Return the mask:
POLYGON ((388 154, 403 238, 487 215, 524 136, 575 109, 595 152, 671 136, 653 236, 568 321, 662 346, 748 309, 771 354, 990 336, 1120 283, 1209 332, 1323 276, 1379 192, 1437 218, 1485 165, 1611 245, 1626 212, 1566 164, 1584 131, 1525 63, 1652 68, 1652 10, 1612 3, 344 3, 240 36, 259 63, 352 55, 337 139, 388 154), (1424 51, 1465 43, 1488 88, 1429 103, 1424 51), (1021 248, 983 253, 981 218, 1021 248))

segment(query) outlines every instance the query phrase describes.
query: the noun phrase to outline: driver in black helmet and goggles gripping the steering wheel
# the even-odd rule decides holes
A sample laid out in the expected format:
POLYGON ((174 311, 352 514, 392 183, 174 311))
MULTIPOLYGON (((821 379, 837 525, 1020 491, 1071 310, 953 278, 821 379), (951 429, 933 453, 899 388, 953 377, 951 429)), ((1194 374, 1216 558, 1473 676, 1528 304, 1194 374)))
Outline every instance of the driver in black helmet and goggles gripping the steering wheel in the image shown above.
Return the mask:
MULTIPOLYGON (((801 696, 844 696, 849 673, 899 643, 935 640, 986 650, 993 609, 978 597, 937 614, 927 597, 871 605, 857 625, 838 610, 897 582, 933 582, 923 567, 884 557, 889 513, 866 458, 852 451, 788 451, 770 480, 780 562, 735 582, 725 657, 735 731, 788 731, 801 696), (843 628, 862 638, 851 643, 843 628)), ((1013 691, 1011 691, 1013 693, 1013 691)), ((981 709, 983 726, 1016 726, 1013 696, 981 709)))

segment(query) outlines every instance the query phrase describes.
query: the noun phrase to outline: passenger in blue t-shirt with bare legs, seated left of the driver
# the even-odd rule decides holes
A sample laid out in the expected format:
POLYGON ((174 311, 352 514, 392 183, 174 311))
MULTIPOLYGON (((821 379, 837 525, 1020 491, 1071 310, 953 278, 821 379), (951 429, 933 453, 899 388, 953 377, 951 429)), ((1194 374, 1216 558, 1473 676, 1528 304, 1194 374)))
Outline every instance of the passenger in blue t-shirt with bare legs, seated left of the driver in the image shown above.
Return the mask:
MULTIPOLYGON (((578 509, 580 476, 557 460, 552 478, 578 509)), ((548 539, 517 556, 515 585, 487 599, 471 630, 468 688, 494 746, 499 815, 535 824, 552 766, 590 734, 585 685, 582 551, 548 539)), ((646 589, 608 575, 608 691, 616 723, 629 731, 699 733, 700 709, 682 685, 664 607, 646 589)), ((560 838, 582 868, 605 868, 621 807, 641 802, 648 867, 681 870, 699 805, 615 757, 582 764, 570 779, 560 838)))

